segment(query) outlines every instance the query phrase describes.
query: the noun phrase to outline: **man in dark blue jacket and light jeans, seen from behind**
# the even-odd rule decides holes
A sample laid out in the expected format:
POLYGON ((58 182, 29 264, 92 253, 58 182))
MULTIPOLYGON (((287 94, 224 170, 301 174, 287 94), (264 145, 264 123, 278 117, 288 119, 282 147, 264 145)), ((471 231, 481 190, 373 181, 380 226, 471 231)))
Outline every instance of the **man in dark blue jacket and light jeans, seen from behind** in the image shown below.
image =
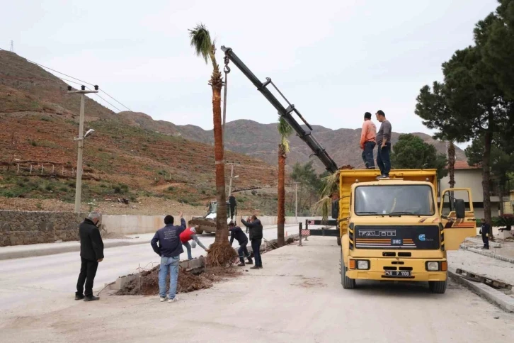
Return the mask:
POLYGON ((168 276, 168 272, 170 274, 168 303, 178 300, 176 298, 178 264, 180 263, 180 255, 184 252, 180 235, 185 230, 185 220, 182 218, 182 212, 179 217, 181 218, 181 226, 175 226, 173 225, 173 215, 166 215, 164 218, 166 226, 155 232, 151 242, 154 252, 161 257, 159 268, 159 296, 161 296, 161 301, 166 300, 166 276, 168 276), (157 242, 159 242, 159 245, 157 245, 157 242))

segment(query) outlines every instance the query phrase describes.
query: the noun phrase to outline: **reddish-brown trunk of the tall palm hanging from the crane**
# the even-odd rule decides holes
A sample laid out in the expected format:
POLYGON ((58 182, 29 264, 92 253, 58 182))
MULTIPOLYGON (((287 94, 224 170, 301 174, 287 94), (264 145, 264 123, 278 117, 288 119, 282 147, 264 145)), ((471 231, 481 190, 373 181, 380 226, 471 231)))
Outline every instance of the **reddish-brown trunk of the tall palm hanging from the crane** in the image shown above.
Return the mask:
POLYGON ((212 84, 212 122, 214 123, 216 161, 216 237, 215 243, 227 242, 227 194, 225 193, 225 165, 222 129, 222 84, 212 84))

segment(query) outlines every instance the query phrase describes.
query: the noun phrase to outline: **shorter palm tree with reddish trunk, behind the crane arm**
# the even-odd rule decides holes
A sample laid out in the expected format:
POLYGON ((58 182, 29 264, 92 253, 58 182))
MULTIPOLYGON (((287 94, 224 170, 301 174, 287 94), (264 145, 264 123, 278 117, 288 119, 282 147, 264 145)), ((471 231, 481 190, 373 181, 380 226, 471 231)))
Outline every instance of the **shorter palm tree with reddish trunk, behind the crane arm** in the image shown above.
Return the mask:
POLYGON ((287 137, 292 134, 291 126, 282 118, 278 117, 278 133, 280 144, 278 145, 278 218, 277 218, 277 244, 284 245, 285 226, 285 159, 289 152, 289 141, 287 137))

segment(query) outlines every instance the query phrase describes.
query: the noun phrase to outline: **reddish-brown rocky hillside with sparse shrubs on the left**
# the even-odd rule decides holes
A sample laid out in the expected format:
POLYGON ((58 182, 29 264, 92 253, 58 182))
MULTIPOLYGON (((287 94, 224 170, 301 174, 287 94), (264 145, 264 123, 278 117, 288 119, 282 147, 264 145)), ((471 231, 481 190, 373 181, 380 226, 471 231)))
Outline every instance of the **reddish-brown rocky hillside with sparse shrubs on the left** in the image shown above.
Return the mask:
MULTIPOLYGON (((79 104, 79 96, 67 94, 63 81, 0 51, 0 198, 72 203, 79 104)), ((85 142, 84 203, 128 198, 132 206, 156 198, 203 206, 215 196, 214 154, 207 140, 185 140, 171 123, 143 113, 113 113, 88 98, 85 116, 85 129, 96 133, 85 142)), ((276 184, 276 168, 260 159, 236 152, 227 152, 226 158, 242 163, 235 189, 276 184)), ((245 206, 263 210, 263 203, 276 203, 275 198, 249 194, 245 206)), ((0 201, 0 208, 8 206, 0 201)))

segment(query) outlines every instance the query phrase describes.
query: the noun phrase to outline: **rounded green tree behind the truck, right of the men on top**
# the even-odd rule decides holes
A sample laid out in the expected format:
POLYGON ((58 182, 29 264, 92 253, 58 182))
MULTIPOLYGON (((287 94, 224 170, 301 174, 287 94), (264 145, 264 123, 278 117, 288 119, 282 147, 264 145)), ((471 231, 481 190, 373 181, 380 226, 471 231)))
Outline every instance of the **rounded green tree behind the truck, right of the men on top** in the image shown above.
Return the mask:
POLYGON ((396 169, 437 169, 438 179, 448 174, 445 154, 415 135, 402 134, 393 146, 391 162, 396 169))

